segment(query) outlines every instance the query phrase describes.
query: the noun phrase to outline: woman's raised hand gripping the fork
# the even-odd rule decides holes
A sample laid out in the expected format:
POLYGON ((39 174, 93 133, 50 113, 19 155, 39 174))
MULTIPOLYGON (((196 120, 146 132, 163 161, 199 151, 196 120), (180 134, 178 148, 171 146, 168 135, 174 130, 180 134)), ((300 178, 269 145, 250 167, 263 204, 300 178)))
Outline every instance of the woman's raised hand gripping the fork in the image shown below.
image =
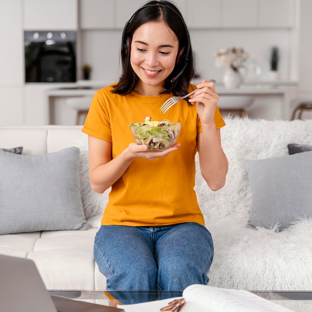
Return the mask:
POLYGON ((196 103, 197 113, 202 124, 214 123, 214 113, 219 101, 214 83, 204 79, 196 87, 199 90, 191 96, 189 102, 192 105, 196 103))

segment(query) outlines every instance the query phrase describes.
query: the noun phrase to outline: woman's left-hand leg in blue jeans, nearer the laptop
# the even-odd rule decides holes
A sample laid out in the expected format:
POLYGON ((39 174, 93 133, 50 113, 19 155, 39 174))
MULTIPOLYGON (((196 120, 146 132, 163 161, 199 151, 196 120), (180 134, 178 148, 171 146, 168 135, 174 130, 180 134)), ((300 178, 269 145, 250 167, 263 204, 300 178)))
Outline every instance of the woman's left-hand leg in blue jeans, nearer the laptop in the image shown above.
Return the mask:
POLYGON ((107 278, 108 289, 155 289, 157 267, 146 239, 127 227, 101 229, 94 242, 94 258, 107 278), (139 287, 139 288, 138 288, 139 287))

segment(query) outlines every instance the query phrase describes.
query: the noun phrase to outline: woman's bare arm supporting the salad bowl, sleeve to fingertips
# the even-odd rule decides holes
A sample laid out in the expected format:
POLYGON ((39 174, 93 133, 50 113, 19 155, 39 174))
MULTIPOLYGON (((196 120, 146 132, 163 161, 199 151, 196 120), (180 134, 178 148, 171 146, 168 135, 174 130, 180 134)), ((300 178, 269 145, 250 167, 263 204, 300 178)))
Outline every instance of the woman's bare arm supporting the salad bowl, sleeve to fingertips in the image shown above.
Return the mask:
POLYGON ((103 193, 112 186, 127 170, 135 158, 146 158, 153 160, 163 157, 177 150, 179 144, 173 145, 170 149, 159 152, 148 152, 147 145, 130 143, 120 155, 112 158, 112 143, 88 137, 89 145, 89 177, 93 190, 103 193))

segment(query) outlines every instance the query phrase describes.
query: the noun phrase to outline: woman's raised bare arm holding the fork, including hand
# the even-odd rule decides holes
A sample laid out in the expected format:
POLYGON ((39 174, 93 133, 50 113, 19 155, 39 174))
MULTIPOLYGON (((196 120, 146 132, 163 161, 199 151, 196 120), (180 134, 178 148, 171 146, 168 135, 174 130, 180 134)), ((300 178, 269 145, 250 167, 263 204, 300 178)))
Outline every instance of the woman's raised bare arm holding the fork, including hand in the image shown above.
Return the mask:
POLYGON ((220 130, 216 129, 214 114, 219 100, 214 84, 203 80, 197 85, 199 90, 190 99, 195 104, 201 121, 202 133, 197 136, 200 171, 212 190, 225 184, 228 161, 221 146, 220 130))

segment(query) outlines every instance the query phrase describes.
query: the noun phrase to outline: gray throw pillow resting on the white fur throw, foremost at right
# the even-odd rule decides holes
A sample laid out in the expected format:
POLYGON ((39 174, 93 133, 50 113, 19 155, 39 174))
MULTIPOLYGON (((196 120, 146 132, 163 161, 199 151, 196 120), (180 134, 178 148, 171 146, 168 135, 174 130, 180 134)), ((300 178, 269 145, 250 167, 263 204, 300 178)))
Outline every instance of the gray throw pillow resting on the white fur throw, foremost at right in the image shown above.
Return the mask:
POLYGON ((247 161, 252 191, 248 227, 284 230, 312 217, 312 151, 247 161))

